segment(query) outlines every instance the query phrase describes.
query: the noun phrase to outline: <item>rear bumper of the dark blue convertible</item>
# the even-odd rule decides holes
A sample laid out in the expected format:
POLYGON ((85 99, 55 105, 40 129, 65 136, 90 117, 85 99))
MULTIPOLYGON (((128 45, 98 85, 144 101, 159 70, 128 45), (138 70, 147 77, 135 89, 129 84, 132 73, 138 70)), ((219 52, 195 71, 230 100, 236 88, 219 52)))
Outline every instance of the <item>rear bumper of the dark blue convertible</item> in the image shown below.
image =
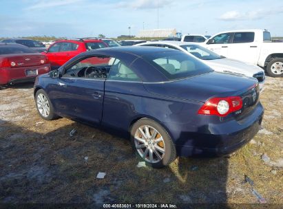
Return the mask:
POLYGON ((260 102, 247 118, 207 124, 197 131, 180 131, 175 140, 179 156, 226 155, 247 144, 260 129, 264 109, 260 102))

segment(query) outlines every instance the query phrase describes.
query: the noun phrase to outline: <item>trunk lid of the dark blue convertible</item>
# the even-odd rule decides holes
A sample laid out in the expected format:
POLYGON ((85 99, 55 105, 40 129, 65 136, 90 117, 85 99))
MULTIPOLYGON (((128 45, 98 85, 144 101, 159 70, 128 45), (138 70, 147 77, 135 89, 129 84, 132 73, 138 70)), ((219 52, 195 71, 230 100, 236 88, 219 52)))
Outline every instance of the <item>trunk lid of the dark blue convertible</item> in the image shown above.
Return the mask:
POLYGON ((145 83, 156 96, 205 102, 211 97, 239 96, 258 83, 255 78, 211 72, 165 83, 145 83))

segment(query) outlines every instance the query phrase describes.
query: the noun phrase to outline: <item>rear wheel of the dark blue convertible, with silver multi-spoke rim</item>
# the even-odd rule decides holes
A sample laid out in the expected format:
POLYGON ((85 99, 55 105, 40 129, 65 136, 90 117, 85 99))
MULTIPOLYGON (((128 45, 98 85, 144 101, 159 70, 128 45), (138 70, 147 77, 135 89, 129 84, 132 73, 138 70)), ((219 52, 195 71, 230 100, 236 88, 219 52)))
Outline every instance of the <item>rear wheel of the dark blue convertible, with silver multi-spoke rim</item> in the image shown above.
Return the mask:
POLYGON ((176 159, 176 147, 169 133, 154 120, 142 118, 134 123, 131 144, 139 159, 153 168, 163 168, 176 159))

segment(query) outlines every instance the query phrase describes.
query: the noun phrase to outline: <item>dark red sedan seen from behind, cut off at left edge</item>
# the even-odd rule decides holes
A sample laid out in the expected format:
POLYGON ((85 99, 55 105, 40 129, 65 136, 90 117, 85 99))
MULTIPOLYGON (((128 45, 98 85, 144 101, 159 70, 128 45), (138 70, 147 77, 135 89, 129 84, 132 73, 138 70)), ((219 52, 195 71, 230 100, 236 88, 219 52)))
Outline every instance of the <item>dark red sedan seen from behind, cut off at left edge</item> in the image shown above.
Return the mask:
POLYGON ((17 43, 0 43, 0 85, 32 81, 50 72, 48 58, 17 43))

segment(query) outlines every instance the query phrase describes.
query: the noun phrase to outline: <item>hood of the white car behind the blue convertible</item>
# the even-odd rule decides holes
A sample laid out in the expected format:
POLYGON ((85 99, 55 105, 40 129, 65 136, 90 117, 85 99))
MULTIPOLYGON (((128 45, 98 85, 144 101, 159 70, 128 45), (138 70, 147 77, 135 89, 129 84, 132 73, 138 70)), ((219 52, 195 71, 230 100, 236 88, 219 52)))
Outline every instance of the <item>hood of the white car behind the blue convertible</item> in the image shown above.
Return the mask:
POLYGON ((264 72, 263 69, 256 65, 246 64, 230 58, 221 58, 204 62, 217 72, 233 72, 249 77, 253 77, 253 74, 264 72))

